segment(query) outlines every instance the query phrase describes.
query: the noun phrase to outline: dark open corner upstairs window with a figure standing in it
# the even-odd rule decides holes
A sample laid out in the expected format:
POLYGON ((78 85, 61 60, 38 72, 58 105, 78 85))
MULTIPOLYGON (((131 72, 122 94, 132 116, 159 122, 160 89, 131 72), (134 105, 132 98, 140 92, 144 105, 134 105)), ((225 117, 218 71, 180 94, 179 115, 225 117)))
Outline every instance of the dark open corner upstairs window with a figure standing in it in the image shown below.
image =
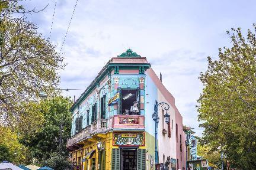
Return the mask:
POLYGON ((121 89, 120 115, 140 115, 139 89, 121 89))

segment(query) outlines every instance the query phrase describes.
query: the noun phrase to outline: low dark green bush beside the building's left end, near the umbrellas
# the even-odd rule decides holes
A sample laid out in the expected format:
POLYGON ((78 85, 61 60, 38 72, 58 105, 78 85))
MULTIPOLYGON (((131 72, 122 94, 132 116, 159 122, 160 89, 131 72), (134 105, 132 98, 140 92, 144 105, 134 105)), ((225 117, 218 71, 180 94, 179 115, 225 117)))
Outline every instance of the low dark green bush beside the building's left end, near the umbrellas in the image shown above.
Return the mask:
POLYGON ((44 165, 49 166, 55 170, 72 169, 72 162, 68 161, 68 157, 56 152, 51 153, 50 159, 44 161, 44 165))

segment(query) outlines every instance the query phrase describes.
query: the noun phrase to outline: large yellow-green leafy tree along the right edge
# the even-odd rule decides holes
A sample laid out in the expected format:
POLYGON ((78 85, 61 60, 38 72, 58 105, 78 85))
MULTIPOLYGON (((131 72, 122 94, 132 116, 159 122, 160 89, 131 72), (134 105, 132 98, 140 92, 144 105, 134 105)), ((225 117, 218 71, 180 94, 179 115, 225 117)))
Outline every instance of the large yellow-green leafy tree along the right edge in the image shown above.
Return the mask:
POLYGON ((219 60, 208 57, 208 68, 199 79, 203 92, 199 120, 203 140, 213 151, 223 152, 240 169, 256 167, 256 38, 248 30, 232 28, 232 47, 219 49, 219 60))

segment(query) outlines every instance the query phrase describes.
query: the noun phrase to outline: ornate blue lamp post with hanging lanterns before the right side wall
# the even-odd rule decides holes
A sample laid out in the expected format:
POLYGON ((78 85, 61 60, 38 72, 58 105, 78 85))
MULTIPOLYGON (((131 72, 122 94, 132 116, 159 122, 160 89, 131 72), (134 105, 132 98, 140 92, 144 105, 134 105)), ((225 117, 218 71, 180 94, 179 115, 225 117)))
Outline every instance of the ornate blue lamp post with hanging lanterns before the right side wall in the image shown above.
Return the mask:
POLYGON ((164 115, 164 120, 165 122, 168 124, 169 123, 169 115, 167 113, 167 110, 169 110, 169 104, 165 103, 165 102, 161 102, 158 103, 157 101, 155 102, 155 106, 154 106, 154 113, 152 115, 152 119, 153 121, 155 121, 155 164, 158 164, 158 148, 157 148, 157 127, 158 127, 158 122, 159 122, 159 117, 158 117, 158 107, 159 106, 164 106, 166 105, 163 109, 166 110, 166 113, 164 115))

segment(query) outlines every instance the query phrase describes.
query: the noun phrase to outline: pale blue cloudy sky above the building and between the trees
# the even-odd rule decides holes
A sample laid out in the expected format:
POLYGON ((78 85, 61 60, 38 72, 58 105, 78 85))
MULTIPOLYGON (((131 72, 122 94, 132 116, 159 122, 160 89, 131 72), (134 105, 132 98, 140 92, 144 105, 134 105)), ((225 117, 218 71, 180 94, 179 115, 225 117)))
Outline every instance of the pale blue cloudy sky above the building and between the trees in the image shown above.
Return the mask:
MULTIPOLYGON (((27 14, 38 31, 60 47, 76 0, 30 0, 27 14), (53 11, 55 8, 55 17, 53 11)), ((203 89, 198 77, 207 69, 207 57, 217 59, 218 48, 230 47, 226 34, 231 28, 246 31, 255 22, 256 1, 236 0, 78 0, 62 48, 67 66, 60 71, 64 96, 76 99, 111 57, 128 48, 146 57, 156 74, 175 97, 183 124, 201 136, 197 99, 203 89)))

